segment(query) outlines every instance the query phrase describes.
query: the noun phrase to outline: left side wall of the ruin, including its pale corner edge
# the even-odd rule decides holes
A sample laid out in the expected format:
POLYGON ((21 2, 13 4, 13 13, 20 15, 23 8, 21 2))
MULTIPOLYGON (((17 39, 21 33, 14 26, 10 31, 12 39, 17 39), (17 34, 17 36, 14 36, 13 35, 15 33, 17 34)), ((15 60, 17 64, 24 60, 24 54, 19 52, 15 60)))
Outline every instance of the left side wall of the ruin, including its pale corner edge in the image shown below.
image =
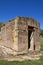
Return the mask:
POLYGON ((2 41, 1 45, 18 51, 18 19, 11 20, 1 28, 2 41))

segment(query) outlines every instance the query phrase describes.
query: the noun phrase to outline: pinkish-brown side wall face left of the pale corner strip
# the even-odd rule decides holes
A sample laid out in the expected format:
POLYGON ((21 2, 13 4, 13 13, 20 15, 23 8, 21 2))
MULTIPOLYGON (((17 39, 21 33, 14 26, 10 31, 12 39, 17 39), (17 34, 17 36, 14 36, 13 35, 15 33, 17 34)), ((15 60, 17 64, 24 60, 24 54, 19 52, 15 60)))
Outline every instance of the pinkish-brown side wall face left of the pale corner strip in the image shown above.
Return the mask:
POLYGON ((12 34, 12 26, 11 24, 6 24, 1 29, 2 33, 2 45, 6 47, 12 48, 13 46, 13 34, 12 34))

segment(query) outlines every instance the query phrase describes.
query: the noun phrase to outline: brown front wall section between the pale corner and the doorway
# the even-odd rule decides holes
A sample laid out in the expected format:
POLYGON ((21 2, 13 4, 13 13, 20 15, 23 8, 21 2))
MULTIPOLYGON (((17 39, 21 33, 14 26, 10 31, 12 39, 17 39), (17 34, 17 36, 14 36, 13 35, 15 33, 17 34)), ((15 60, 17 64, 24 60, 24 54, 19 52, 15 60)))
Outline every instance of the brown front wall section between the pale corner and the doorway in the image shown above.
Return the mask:
POLYGON ((27 51, 28 50, 28 26, 27 22, 24 18, 20 18, 18 22, 18 48, 19 51, 27 51))

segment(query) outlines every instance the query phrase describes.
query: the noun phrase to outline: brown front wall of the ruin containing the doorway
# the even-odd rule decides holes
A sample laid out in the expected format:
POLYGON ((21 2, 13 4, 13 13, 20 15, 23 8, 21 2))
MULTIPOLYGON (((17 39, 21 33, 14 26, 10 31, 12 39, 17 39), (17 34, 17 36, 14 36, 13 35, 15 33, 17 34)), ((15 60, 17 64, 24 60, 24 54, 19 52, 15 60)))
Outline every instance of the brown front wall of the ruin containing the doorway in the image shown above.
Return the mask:
MULTIPOLYGON (((34 41, 32 41, 31 50, 34 50, 34 45, 35 45, 35 50, 39 49, 40 47, 40 25, 39 23, 32 19, 32 18, 24 18, 20 17, 19 22, 18 22, 18 48, 19 51, 24 51, 28 50, 28 26, 34 27, 34 32, 33 32, 33 37, 34 41)), ((40 50, 40 49, 39 49, 40 50)))

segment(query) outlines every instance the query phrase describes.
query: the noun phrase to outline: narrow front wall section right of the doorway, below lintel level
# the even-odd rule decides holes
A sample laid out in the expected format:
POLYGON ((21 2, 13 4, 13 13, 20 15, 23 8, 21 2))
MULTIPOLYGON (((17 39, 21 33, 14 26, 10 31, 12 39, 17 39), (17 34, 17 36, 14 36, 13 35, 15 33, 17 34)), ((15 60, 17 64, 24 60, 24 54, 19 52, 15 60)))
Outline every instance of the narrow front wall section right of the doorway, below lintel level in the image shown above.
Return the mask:
POLYGON ((40 50, 40 28, 35 29, 34 34, 35 34, 35 36, 34 36, 34 39, 35 39, 35 50, 39 51, 40 50))

